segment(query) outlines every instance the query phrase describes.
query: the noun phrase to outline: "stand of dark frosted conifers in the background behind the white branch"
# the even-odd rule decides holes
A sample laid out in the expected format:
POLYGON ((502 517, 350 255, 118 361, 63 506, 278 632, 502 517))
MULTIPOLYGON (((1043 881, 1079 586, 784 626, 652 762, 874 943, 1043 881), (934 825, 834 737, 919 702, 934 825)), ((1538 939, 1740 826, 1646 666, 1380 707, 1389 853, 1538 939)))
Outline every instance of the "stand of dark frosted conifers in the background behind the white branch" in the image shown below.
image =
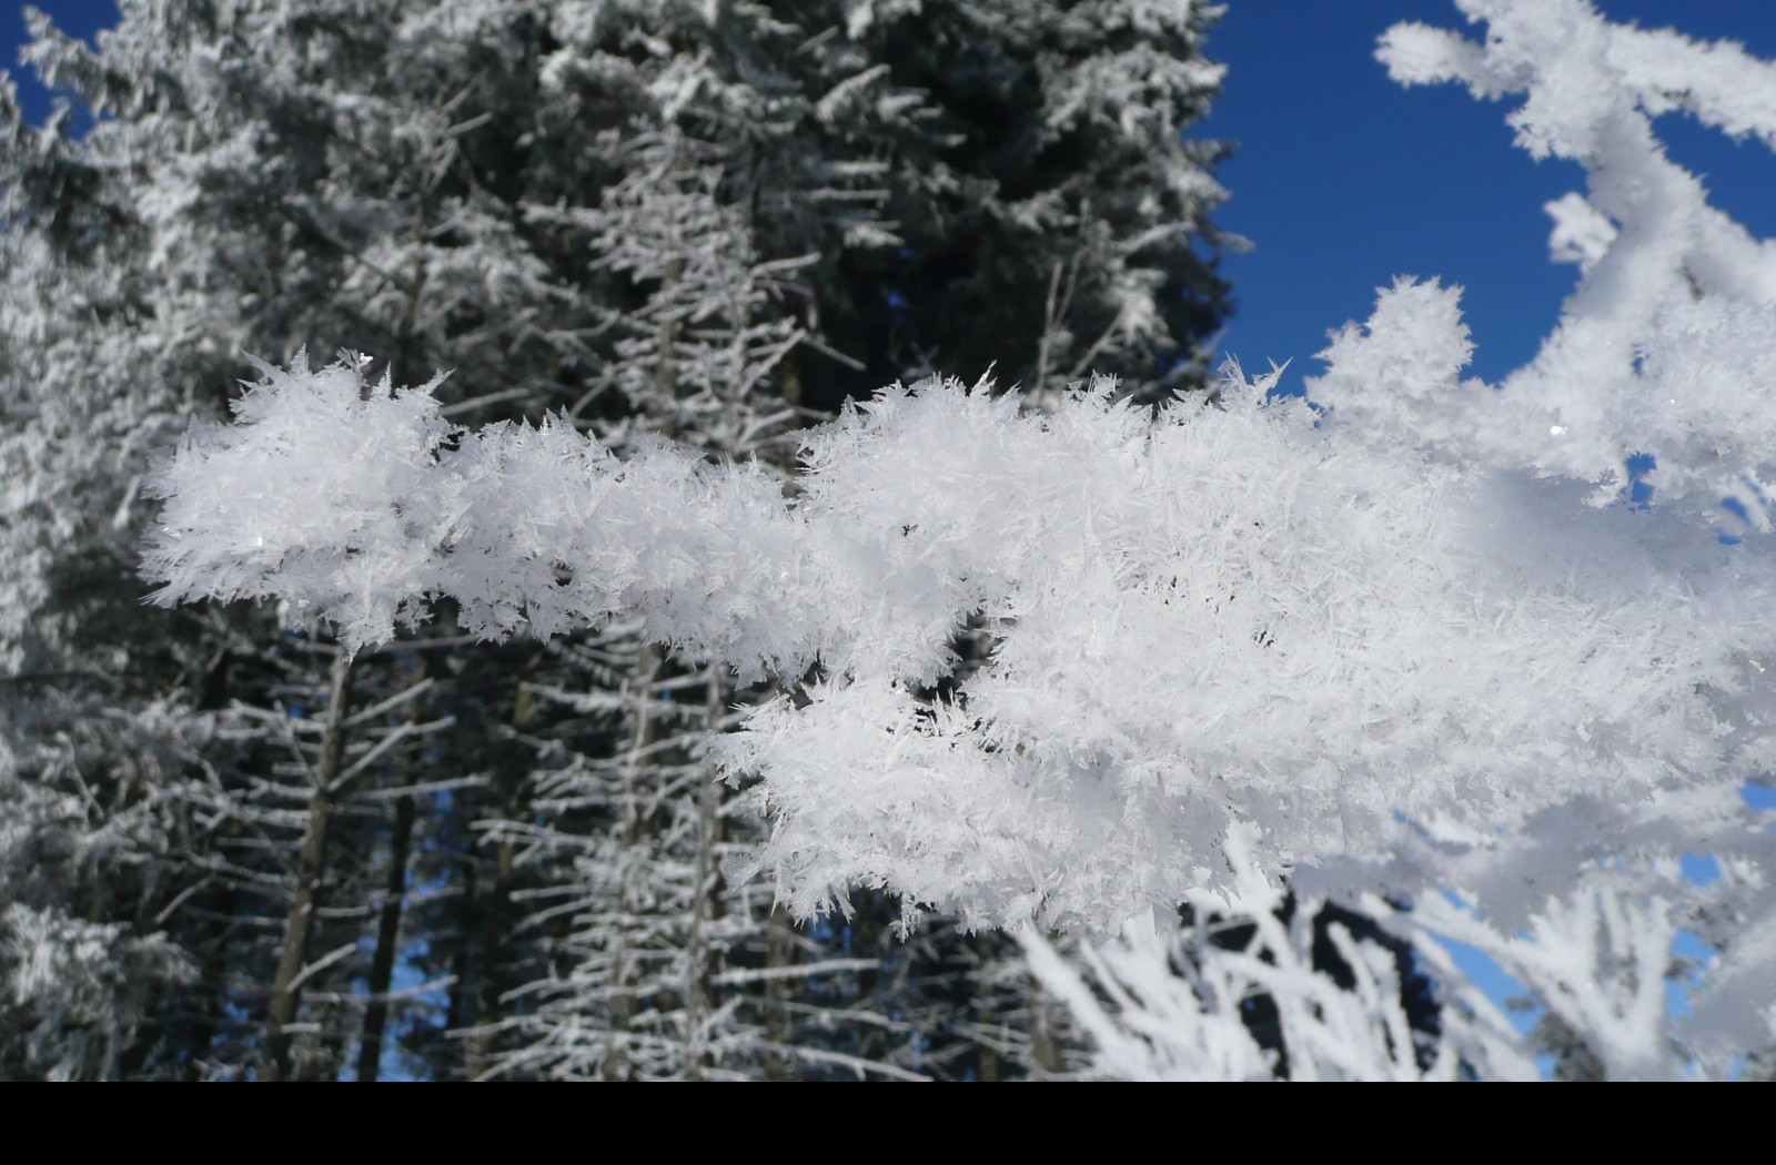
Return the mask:
POLYGON ((1218 147, 1179 137, 1220 76, 1208 11, 121 7, 98 50, 32 18, 28 64, 87 130, 0 98, 0 796, 37 806, 7 852, 107 856, 7 883, 36 886, 16 890, 32 918, 124 927, 94 945, 20 915, 9 934, 37 938, 9 966, 53 943, 137 963, 91 977, 119 991, 110 1044, 64 1055, 73 1028, 41 1016, 78 1009, 39 995, 7 1062, 542 1073, 551 1016, 604 1007, 599 961, 634 915, 614 893, 654 902, 662 943, 630 984, 636 1030, 675 1048, 648 1073, 1000 1071, 977 1044, 1009 1044, 977 1032, 1018 1007, 1003 945, 938 927, 893 947, 863 899, 849 931, 796 932, 723 886, 755 826, 705 737, 769 691, 623 627, 472 648, 451 609, 337 673, 302 611, 144 611, 137 494, 249 355, 375 352, 364 391, 453 369, 449 416, 558 410, 790 490, 794 430, 895 375, 998 359, 1032 387, 1087 366, 1186 384, 1225 309, 1192 250, 1218 238, 1218 147), (998 1002, 970 1002, 989 980, 998 1002))

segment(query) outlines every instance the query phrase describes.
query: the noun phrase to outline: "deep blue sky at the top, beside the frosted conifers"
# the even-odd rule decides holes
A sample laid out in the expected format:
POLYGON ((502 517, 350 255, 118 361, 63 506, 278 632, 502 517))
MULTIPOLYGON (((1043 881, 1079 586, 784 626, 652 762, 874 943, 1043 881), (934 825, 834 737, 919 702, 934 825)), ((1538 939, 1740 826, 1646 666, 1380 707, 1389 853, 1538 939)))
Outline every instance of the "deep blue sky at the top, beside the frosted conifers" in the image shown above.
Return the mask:
MULTIPOLYGON (((114 23, 107 0, 39 0, 67 30, 114 23)), ((1730 37, 1776 59, 1776 0, 1598 0, 1614 20, 1730 37)), ((23 39, 23 5, 0 4, 4 57, 23 39)), ((1394 275, 1467 288, 1476 371, 1497 380, 1527 361, 1577 270, 1547 261, 1542 204, 1582 186, 1579 167, 1531 162, 1506 108, 1453 85, 1401 89, 1375 60, 1394 21, 1460 27, 1449 0, 1229 0, 1209 55, 1227 91, 1197 131, 1240 144, 1222 169, 1233 199, 1218 222, 1254 243, 1229 256, 1238 314, 1222 350, 1249 368, 1293 359, 1286 384, 1318 371, 1327 329, 1369 314, 1394 275)), ((34 117, 48 98, 20 80, 34 117)), ((1776 156, 1684 117, 1662 119, 1671 155, 1707 176, 1716 201, 1776 236, 1776 156)))

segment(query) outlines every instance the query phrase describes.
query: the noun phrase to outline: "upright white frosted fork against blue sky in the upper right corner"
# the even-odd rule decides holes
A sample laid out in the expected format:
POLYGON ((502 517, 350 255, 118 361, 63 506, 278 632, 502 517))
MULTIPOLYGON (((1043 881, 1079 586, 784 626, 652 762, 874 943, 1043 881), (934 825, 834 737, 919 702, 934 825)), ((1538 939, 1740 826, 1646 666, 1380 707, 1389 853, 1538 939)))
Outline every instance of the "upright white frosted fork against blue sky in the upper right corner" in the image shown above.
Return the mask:
POLYGON ((1591 481, 1597 503, 1618 495, 1630 456, 1650 455, 1662 501, 1724 517, 1728 497, 1767 529, 1776 243, 1709 204, 1701 179, 1666 156, 1653 117, 1685 112, 1776 147, 1776 64, 1732 43, 1613 25, 1588 0, 1456 2, 1485 21, 1483 43, 1407 23, 1376 55, 1407 85, 1522 96, 1506 117, 1518 144, 1586 169, 1586 194, 1547 204, 1552 258, 1577 261, 1582 281, 1536 359, 1497 391, 1456 380, 1467 334, 1447 321, 1455 293, 1444 293, 1439 323, 1421 311, 1430 293, 1407 282, 1382 293, 1368 334, 1346 325, 1334 339, 1330 369, 1309 394, 1447 456, 1591 481), (1460 359, 1401 392, 1398 376, 1369 373, 1403 350, 1460 359))

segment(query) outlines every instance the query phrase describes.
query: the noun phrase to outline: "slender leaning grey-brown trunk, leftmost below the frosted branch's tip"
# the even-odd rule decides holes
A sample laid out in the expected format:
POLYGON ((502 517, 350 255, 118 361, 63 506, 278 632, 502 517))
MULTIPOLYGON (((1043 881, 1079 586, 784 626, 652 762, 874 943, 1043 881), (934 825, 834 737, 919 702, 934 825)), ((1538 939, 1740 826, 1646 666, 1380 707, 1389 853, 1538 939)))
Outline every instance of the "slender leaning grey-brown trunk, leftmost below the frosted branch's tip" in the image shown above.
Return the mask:
POLYGON ((332 803, 345 760, 345 716, 352 701, 352 657, 341 650, 334 657, 327 691, 327 721, 321 733, 321 755, 313 769, 309 792, 309 822, 302 833, 302 861, 297 868, 297 890, 284 918, 284 941, 277 954, 277 977, 272 980, 272 1003, 265 1025, 265 1080, 289 1076, 289 1025, 300 1003, 302 964, 307 961, 309 936, 314 931, 314 907, 321 879, 327 876, 327 828, 332 820, 332 803))

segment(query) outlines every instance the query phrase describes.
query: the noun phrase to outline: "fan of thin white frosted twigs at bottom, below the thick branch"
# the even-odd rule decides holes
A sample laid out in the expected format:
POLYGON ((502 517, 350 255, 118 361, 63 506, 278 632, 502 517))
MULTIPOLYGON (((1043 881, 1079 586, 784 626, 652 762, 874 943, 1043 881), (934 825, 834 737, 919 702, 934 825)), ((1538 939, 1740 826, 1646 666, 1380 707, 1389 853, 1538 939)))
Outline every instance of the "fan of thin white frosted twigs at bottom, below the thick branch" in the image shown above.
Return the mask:
MULTIPOLYGON (((1090 1074, 1117 1080, 1533 1080, 1510 1019, 1467 986, 1437 939, 1417 932, 1415 961, 1437 977, 1435 1032, 1414 1026, 1403 1002, 1405 961, 1341 922, 1323 927, 1348 984, 1320 966, 1323 900, 1279 909, 1284 897, 1229 836, 1234 884, 1195 893, 1197 925, 1130 922, 1103 947, 1082 945, 1071 966, 1034 931, 1019 941, 1034 975, 1058 996, 1090 1042, 1090 1074), (1208 920, 1220 920, 1209 923, 1208 920), (1266 1048, 1254 1030, 1273 1014, 1266 1048)), ((1385 902, 1371 909, 1387 918, 1385 902)))

